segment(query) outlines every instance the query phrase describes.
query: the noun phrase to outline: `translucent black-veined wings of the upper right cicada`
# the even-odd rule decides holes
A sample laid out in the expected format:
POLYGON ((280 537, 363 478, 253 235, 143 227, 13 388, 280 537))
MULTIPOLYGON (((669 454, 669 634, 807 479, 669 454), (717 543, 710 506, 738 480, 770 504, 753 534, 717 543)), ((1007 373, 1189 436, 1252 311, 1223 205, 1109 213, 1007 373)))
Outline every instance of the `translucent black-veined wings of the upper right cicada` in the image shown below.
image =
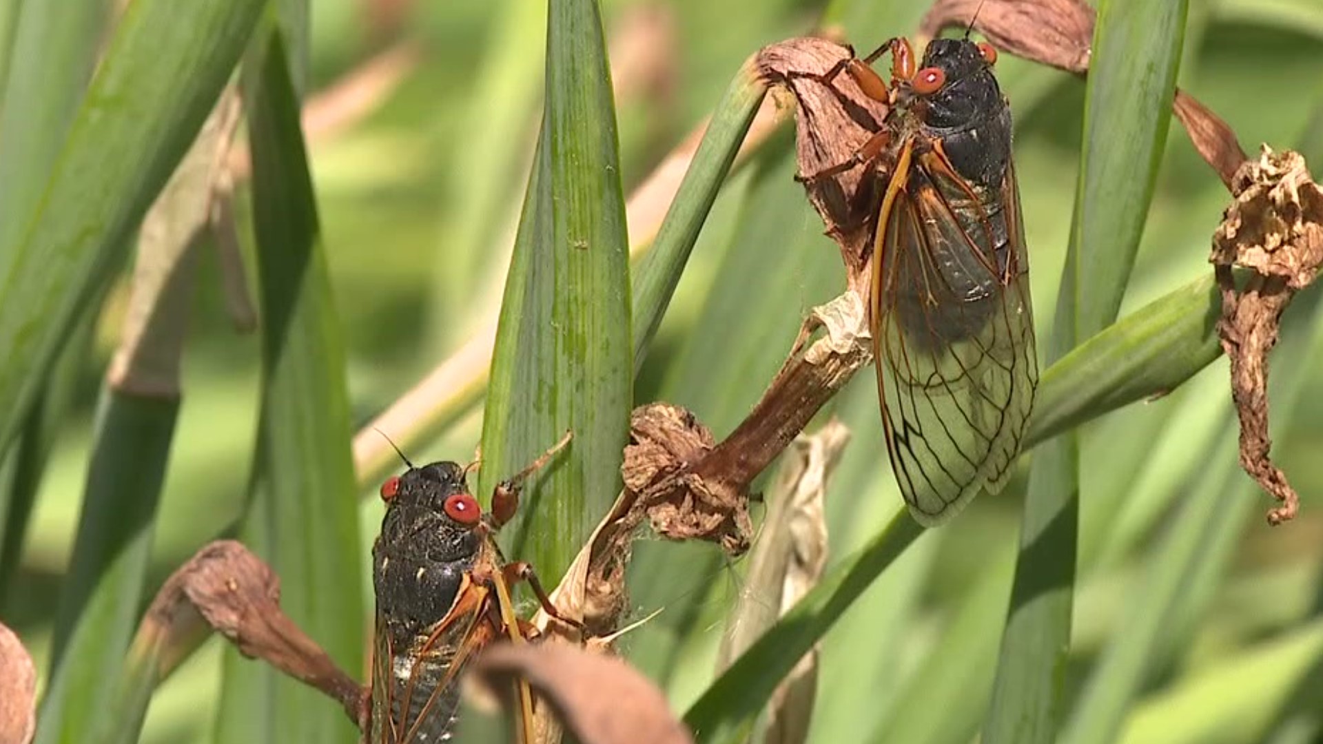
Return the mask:
POLYGON ((1012 169, 996 193, 941 148, 901 148, 878 214, 871 320, 892 469, 910 514, 937 526, 1011 474, 1037 356, 1012 169))

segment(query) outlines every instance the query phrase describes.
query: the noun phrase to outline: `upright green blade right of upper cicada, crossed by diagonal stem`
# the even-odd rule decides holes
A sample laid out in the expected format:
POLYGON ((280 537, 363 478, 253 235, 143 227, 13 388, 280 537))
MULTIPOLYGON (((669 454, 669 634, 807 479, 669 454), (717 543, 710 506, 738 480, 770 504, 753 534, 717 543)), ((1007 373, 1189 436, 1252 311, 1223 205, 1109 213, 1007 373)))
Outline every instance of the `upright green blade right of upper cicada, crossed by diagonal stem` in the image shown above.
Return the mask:
MULTIPOLYGON (((1185 11, 1184 1, 1105 0, 1099 7, 1074 226, 1049 363, 1110 326, 1121 308, 1166 144, 1185 11)), ((1052 741, 1065 712, 1078 488, 1080 443, 1070 432, 1035 455, 1011 609, 983 725, 988 744, 1052 741)))

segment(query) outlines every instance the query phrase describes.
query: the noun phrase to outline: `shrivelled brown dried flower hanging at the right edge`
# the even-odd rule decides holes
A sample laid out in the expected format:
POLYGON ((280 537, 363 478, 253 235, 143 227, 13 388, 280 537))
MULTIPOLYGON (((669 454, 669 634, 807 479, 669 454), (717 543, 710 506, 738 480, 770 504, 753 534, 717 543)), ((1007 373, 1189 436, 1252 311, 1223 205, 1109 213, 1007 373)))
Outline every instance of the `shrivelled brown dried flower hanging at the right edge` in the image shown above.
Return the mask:
POLYGON ((1209 261, 1222 294, 1217 332, 1232 363, 1232 398, 1240 416, 1240 462, 1282 502, 1270 524, 1293 519, 1299 496, 1269 458, 1267 353, 1277 344, 1282 312, 1323 263, 1323 189, 1297 152, 1263 146, 1230 183, 1234 201, 1213 233, 1209 261), (1248 269, 1237 289, 1232 267, 1248 269))

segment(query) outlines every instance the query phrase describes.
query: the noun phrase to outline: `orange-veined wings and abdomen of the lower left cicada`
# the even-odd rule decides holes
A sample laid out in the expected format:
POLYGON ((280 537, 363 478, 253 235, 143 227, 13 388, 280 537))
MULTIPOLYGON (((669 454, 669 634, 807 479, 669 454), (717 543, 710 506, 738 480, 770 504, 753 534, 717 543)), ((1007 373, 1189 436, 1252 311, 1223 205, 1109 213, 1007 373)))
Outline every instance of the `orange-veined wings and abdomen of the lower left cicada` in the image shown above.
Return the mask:
POLYGON ((459 712, 459 675, 491 641, 488 590, 464 581, 451 610, 407 639, 377 616, 372 667, 372 741, 446 741, 459 712))

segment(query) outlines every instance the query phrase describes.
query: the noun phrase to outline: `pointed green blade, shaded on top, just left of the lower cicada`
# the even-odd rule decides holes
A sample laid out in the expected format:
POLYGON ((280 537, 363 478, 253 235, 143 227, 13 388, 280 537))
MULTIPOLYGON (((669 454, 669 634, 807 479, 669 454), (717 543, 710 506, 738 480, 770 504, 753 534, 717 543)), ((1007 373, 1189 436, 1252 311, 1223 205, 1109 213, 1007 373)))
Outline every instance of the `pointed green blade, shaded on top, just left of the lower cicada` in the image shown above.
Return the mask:
MULTIPOLYGON (((320 246, 299 102, 279 32, 246 65, 262 306, 262 414, 242 540, 280 605, 344 669, 363 669, 363 552, 344 346, 320 246)), ((226 651, 217 741, 353 741, 320 692, 226 651)))

